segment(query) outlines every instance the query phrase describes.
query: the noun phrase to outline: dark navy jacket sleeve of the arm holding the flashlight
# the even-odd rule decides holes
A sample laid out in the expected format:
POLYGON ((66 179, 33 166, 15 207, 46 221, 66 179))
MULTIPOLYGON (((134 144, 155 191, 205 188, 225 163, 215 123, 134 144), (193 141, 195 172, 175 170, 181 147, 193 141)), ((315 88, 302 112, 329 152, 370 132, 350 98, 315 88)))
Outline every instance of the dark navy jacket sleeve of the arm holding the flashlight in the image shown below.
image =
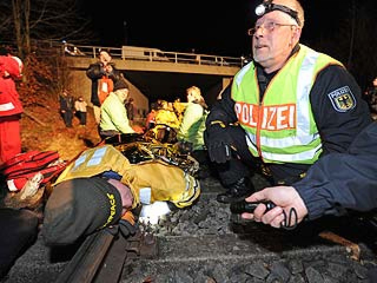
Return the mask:
POLYGON ((363 129, 346 153, 320 158, 293 186, 310 220, 377 208, 377 123, 363 129))

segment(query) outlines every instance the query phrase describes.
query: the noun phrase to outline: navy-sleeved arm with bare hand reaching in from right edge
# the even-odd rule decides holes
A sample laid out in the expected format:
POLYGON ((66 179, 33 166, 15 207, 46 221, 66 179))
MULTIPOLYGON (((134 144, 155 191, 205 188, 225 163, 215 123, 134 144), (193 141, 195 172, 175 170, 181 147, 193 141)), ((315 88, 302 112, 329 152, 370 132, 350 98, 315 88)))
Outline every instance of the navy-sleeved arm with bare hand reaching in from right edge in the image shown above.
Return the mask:
POLYGON ((242 217, 263 221, 278 228, 296 209, 297 222, 305 217, 315 220, 325 215, 342 216, 348 210, 371 211, 377 208, 377 123, 366 127, 345 153, 332 152, 320 158, 307 175, 292 186, 265 188, 246 198, 247 201, 270 200, 276 208, 265 212, 259 205, 254 214, 242 217))

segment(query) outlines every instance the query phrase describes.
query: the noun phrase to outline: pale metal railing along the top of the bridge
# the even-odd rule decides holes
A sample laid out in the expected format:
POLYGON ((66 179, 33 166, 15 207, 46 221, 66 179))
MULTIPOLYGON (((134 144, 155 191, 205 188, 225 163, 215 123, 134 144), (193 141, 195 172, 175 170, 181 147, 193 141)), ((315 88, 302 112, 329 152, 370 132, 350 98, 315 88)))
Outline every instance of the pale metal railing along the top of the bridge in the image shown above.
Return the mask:
POLYGON ((242 67, 242 57, 226 57, 195 53, 167 52, 155 48, 122 46, 122 48, 73 45, 60 43, 64 55, 97 58, 101 51, 107 51, 118 60, 138 60, 177 64, 242 67))

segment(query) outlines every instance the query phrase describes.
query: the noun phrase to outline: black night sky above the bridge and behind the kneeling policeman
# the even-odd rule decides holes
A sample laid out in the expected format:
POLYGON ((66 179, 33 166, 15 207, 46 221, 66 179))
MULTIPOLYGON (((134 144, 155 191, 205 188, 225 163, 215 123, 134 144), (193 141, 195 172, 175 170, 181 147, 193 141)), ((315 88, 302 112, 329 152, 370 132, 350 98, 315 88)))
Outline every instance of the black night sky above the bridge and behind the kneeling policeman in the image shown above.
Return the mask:
MULTIPOLYGON (((99 33, 93 46, 120 48, 129 46, 157 48, 167 52, 241 57, 250 55, 251 38, 246 31, 255 22, 254 10, 261 0, 233 2, 196 1, 171 2, 107 0, 94 4, 79 0, 92 29, 99 33), (126 22, 126 28, 123 23, 126 22)), ((299 0, 305 10, 305 26, 300 42, 348 63, 351 38, 351 8, 356 6, 356 30, 353 57, 359 56, 354 68, 349 68, 361 85, 375 74, 370 60, 377 48, 375 40, 376 0, 299 0), (365 26, 368 19, 368 26, 365 26), (347 22, 348 21, 348 22, 347 22), (374 40, 372 41, 372 39, 374 40), (359 50, 360 46, 368 45, 359 50), (374 46, 376 46, 374 48, 374 46), (369 54, 362 57, 362 54, 369 54), (362 62, 362 64, 360 64, 362 62), (355 68, 356 67, 356 68, 355 68)), ((374 55, 375 56, 375 55, 374 55)), ((356 62, 356 61, 355 61, 356 62)))

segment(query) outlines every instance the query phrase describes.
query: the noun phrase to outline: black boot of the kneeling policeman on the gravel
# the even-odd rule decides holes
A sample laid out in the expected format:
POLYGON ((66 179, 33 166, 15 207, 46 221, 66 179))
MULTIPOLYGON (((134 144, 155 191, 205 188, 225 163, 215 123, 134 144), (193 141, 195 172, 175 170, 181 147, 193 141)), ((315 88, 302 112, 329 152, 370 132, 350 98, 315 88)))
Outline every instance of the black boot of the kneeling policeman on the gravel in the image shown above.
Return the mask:
POLYGON ((236 183, 228 186, 227 191, 223 194, 218 194, 216 199, 221 203, 234 203, 244 200, 249 195, 255 192, 253 184, 248 177, 239 179, 236 183))

